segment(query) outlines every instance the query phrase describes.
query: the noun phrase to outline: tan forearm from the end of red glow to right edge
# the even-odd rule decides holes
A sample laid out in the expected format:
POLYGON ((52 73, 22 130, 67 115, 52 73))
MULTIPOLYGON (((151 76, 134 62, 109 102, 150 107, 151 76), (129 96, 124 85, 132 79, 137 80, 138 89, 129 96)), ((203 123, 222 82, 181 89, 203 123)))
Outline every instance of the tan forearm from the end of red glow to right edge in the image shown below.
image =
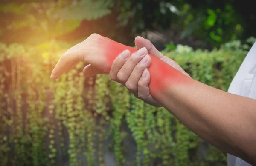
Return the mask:
POLYGON ((155 97, 208 143, 256 164, 256 100, 229 94, 195 80, 189 85, 170 85, 155 97))

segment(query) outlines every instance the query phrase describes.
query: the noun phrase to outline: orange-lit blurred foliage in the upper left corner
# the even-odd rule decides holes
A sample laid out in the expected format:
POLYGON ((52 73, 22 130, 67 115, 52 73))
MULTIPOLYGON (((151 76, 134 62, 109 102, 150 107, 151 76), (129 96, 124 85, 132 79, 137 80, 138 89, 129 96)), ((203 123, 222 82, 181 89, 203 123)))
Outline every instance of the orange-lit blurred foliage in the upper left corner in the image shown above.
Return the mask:
MULTIPOLYGON (((39 0, 0 3, 0 31, 7 40, 40 43, 70 33, 84 20, 96 20, 111 14, 112 0, 39 0), (6 19, 8 18, 8 19, 6 19), (28 33, 29 31, 29 33, 28 33)), ((0 34, 1 35, 1 34, 0 34)))

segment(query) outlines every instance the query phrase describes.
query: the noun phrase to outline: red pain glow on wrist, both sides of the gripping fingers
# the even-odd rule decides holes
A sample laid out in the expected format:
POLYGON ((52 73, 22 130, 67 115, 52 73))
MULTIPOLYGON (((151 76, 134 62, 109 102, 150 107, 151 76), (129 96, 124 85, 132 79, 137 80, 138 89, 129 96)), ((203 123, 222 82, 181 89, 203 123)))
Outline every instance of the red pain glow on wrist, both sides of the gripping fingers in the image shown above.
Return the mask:
MULTIPOLYGON (((102 52, 106 58, 106 63, 110 66, 108 73, 113 61, 119 54, 125 50, 129 50, 131 54, 133 54, 138 50, 130 46, 125 46, 107 37, 103 37, 103 39, 98 40, 98 45, 102 48, 102 52)), ((153 97, 158 98, 157 94, 159 94, 159 91, 163 91, 169 86, 188 83, 187 76, 177 71, 172 66, 169 66, 159 58, 151 54, 148 55, 151 57, 151 65, 148 67, 151 79, 148 86, 153 97)))

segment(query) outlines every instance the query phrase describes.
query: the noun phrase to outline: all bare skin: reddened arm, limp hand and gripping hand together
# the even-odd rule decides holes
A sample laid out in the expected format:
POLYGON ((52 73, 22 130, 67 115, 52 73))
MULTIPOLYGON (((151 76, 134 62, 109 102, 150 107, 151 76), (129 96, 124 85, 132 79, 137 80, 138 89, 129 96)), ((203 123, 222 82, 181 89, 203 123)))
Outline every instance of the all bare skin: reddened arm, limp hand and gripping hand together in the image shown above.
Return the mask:
POLYGON ((83 61, 87 63, 83 71, 86 76, 110 74, 111 79, 125 85, 136 97, 165 107, 192 132, 222 152, 256 165, 256 146, 253 146, 256 145, 256 100, 193 80, 141 37, 136 38, 135 44, 144 54, 93 35, 64 53, 52 72, 52 79, 83 61))

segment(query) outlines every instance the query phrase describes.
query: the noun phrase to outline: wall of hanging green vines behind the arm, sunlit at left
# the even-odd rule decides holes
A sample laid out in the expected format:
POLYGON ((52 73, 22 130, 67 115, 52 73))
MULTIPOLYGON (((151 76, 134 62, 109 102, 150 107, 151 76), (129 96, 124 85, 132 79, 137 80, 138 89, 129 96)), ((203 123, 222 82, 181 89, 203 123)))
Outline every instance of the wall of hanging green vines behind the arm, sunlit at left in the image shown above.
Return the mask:
MULTIPOLYGON (((178 45, 163 54, 195 80, 227 91, 248 48, 233 41, 211 52, 178 45)), ((0 43, 1 165, 53 166, 57 165, 56 156, 62 154, 75 166, 81 163, 78 154, 82 153, 88 166, 103 166, 103 136, 109 134, 116 163, 122 165, 126 162, 122 144, 127 136, 125 123, 137 143, 137 165, 149 165, 154 159, 160 159, 163 166, 226 164, 226 157, 213 147, 202 160, 201 139, 168 111, 136 99, 106 74, 84 78, 79 63, 51 81, 51 69, 62 52, 57 43, 38 47, 0 43), (110 130, 105 130, 108 124, 110 130), (93 141, 96 138, 99 145, 93 141)))

